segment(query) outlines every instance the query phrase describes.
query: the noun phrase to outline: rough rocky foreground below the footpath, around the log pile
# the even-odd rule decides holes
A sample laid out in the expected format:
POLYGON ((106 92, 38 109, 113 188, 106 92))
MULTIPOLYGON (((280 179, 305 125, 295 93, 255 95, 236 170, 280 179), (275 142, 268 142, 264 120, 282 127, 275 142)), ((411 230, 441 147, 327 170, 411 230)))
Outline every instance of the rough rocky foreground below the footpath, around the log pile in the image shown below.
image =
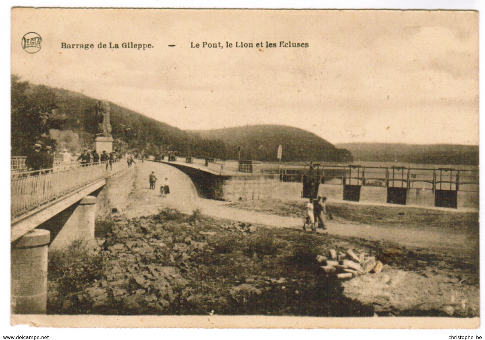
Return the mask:
POLYGON ((162 209, 97 221, 90 251, 50 256, 49 313, 476 316, 468 268, 391 243, 216 220, 162 209), (373 254, 383 272, 342 281, 316 261, 326 249, 373 254), (67 269, 66 269, 67 268, 67 269), (89 275, 88 275, 89 274, 89 275))

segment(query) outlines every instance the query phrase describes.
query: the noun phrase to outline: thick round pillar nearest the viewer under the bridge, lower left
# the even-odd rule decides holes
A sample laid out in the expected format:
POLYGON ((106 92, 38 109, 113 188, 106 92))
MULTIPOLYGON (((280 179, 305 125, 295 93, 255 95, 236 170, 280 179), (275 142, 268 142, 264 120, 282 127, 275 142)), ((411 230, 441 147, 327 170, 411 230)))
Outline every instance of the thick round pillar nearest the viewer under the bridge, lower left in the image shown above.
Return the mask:
POLYGON ((50 232, 33 229, 11 246, 11 304, 15 314, 46 314, 50 232))

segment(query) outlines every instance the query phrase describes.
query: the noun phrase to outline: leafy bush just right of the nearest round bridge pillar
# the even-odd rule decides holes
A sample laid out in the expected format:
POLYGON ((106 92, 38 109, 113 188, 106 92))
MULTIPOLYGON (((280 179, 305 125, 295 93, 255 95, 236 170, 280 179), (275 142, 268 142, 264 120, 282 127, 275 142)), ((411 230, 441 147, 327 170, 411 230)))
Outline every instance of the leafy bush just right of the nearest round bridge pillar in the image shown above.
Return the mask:
POLYGON ((49 276, 65 293, 80 291, 87 284, 101 279, 103 268, 102 257, 88 254, 81 240, 72 242, 64 250, 49 252, 49 276))

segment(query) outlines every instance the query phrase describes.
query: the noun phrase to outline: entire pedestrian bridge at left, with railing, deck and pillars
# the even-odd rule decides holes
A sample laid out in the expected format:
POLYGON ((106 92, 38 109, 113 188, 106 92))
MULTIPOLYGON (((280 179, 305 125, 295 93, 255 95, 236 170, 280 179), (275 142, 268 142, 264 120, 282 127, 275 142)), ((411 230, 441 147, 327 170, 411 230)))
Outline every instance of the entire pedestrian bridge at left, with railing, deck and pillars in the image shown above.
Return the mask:
POLYGON ((127 174, 129 168, 121 161, 12 172, 12 312, 46 312, 48 247, 60 249, 74 240, 94 240, 96 212, 102 203, 98 198, 112 179, 119 182, 127 174))

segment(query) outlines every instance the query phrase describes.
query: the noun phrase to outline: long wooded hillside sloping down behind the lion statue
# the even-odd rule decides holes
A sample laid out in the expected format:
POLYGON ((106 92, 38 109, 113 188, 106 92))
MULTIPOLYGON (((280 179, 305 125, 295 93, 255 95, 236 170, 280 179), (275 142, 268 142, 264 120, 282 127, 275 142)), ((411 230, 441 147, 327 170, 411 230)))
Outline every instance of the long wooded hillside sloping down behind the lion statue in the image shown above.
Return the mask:
MULTIPOLYGON (((79 152, 92 148, 97 122, 97 99, 65 89, 33 85, 12 76, 12 154, 25 155, 41 142, 79 152), (46 105, 48 103, 49 105, 46 105), (32 117, 38 118, 33 120, 32 117), (31 124, 30 122, 33 122, 31 124)), ((224 143, 172 127, 110 103, 112 135, 117 150, 147 154, 174 150, 181 155, 223 158, 224 143)))

